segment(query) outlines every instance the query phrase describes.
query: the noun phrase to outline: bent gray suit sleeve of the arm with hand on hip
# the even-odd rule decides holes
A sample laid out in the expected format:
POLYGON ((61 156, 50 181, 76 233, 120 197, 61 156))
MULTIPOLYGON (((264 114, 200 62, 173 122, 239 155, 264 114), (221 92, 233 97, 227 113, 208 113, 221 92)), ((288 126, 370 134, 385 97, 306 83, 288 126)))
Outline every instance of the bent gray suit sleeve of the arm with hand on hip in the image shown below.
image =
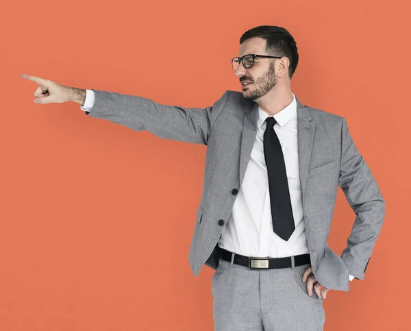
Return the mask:
POLYGON ((347 247, 341 258, 349 274, 364 280, 364 273, 382 228, 385 202, 364 158, 360 155, 343 118, 338 186, 356 214, 347 247))

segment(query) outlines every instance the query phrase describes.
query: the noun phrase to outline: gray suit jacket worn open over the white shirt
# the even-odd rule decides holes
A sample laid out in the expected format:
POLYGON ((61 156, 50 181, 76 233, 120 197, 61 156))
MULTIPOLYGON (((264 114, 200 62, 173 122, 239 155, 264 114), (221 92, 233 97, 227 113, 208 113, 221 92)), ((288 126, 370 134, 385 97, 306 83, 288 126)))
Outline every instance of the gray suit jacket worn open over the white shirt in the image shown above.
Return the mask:
MULTIPOLYGON (((198 275, 219 265, 217 245, 240 189, 256 138, 257 103, 227 90, 213 106, 165 106, 151 99, 94 90, 90 117, 155 136, 207 145, 203 191, 188 260, 198 275)), ((297 98, 296 98, 297 99, 297 98)), ((343 117, 303 106, 297 99, 299 175, 312 272, 328 289, 349 291, 349 274, 363 280, 385 202, 343 117), (347 247, 338 256, 327 245, 337 186, 356 214, 347 247)))

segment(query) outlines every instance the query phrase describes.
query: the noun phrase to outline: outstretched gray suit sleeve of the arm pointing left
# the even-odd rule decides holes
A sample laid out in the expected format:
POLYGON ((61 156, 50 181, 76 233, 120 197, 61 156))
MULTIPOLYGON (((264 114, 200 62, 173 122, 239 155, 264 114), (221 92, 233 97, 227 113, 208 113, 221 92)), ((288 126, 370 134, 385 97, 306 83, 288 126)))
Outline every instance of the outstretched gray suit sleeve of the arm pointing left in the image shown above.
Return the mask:
POLYGON ((229 97, 229 90, 206 108, 166 106, 151 99, 94 90, 89 117, 106 119, 132 130, 147 130, 164 139, 207 145, 210 128, 229 97))

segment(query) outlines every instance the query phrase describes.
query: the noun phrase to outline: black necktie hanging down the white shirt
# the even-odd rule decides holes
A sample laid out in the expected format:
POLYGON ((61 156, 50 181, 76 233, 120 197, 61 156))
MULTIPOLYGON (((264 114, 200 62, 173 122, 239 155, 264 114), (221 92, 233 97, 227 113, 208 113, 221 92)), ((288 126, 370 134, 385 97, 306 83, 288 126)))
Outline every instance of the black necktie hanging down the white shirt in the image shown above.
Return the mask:
POLYGON ((264 132, 264 158, 269 174, 269 190, 273 229, 285 241, 288 241, 295 230, 290 191, 288 189, 286 164, 274 124, 274 117, 266 118, 264 132))

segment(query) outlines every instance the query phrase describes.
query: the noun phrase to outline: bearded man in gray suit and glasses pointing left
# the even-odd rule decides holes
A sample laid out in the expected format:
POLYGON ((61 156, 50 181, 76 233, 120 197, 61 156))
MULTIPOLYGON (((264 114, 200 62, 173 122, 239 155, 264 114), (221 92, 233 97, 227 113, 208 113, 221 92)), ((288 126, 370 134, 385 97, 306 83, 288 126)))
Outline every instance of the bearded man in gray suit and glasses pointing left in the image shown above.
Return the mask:
POLYGON ((76 101, 88 116, 207 145, 189 261, 195 276, 216 269, 215 330, 323 330, 327 292, 364 279, 382 228, 384 199, 345 119, 291 92, 297 63, 286 29, 250 29, 232 59, 242 93, 205 109, 23 76, 39 103, 76 101), (341 257, 327 246, 337 186, 356 213, 341 257))

